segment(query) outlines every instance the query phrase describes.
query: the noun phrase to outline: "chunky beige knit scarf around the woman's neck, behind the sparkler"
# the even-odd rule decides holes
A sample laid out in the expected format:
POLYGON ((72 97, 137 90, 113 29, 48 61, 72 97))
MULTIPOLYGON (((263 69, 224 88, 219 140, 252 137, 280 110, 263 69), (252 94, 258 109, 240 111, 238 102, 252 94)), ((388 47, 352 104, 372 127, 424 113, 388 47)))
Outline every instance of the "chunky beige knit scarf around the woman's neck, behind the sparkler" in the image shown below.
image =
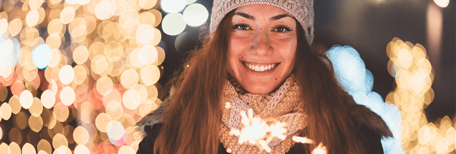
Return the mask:
POLYGON ((268 146, 271 153, 286 153, 294 145, 292 136, 297 136, 307 126, 307 115, 303 110, 303 104, 299 99, 299 87, 294 75, 290 75, 278 89, 268 94, 252 94, 245 91, 233 78, 229 78, 223 85, 223 99, 230 102, 230 108, 223 109, 222 123, 220 127, 220 142, 233 154, 238 153, 267 153, 260 150, 256 145, 238 143, 239 138, 231 135, 232 129, 241 130, 241 111, 253 110, 253 116, 261 119, 274 119, 286 123, 286 138, 273 139, 268 146))

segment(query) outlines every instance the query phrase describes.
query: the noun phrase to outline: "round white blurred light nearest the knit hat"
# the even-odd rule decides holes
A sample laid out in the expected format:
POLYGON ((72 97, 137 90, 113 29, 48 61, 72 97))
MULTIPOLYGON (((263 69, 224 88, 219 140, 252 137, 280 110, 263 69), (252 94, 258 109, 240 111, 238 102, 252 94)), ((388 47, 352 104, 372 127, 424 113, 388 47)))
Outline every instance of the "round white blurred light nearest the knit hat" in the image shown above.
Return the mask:
POLYGON ((209 12, 206 7, 201 4, 189 5, 183 12, 183 20, 185 23, 194 27, 203 25, 208 17, 209 12))

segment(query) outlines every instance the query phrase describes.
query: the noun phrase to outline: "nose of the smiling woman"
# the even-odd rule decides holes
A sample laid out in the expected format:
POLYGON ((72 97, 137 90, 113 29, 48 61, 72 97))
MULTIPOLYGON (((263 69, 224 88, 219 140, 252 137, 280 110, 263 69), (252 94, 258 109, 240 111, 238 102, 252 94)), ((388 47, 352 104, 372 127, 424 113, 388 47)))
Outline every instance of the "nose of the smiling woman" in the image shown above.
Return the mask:
POLYGON ((269 56, 273 53, 273 47, 266 30, 259 29, 254 32, 250 40, 249 50, 258 56, 269 56))

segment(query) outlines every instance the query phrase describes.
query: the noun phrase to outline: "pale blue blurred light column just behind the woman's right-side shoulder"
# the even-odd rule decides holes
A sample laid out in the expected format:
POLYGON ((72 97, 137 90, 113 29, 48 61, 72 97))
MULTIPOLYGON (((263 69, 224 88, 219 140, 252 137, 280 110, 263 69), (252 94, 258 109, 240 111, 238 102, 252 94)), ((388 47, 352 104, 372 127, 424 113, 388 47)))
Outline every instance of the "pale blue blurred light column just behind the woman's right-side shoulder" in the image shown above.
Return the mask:
POLYGON ((372 91, 373 75, 364 61, 351 46, 334 45, 326 55, 332 62, 340 86, 357 104, 363 105, 382 117, 394 137, 382 138, 384 153, 404 153, 401 142, 401 112, 393 104, 386 103, 382 96, 372 91))

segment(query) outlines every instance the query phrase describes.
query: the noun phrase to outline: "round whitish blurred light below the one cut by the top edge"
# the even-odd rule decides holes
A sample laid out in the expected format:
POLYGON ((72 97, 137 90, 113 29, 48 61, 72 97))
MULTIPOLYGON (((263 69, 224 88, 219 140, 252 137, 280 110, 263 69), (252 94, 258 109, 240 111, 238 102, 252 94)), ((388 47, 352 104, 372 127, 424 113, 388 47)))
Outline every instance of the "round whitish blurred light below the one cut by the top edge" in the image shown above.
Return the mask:
MULTIPOLYGON (((168 2, 168 1, 162 1, 168 2)), ((185 21, 183 16, 179 13, 170 13, 163 18, 162 28, 163 32, 168 35, 177 35, 185 29, 185 21)))

